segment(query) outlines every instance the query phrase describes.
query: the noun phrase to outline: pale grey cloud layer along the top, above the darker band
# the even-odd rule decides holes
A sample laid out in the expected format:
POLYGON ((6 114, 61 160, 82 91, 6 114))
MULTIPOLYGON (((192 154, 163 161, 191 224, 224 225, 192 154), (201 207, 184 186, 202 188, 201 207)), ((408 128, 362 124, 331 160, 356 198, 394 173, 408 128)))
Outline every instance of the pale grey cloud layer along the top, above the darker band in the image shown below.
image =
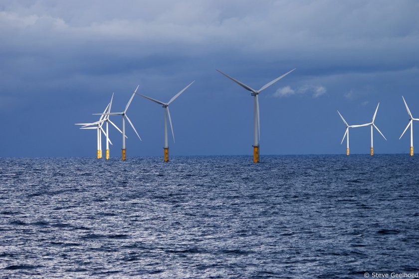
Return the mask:
POLYGON ((48 41, 73 44, 83 39, 89 47, 123 41, 133 44, 127 47, 131 52, 179 46, 183 55, 240 49, 276 59, 318 53, 342 61, 389 49, 412 51, 409 45, 418 43, 415 6, 417 1, 36 1, 4 8, 0 20, 7 23, 3 31, 37 32, 48 41))

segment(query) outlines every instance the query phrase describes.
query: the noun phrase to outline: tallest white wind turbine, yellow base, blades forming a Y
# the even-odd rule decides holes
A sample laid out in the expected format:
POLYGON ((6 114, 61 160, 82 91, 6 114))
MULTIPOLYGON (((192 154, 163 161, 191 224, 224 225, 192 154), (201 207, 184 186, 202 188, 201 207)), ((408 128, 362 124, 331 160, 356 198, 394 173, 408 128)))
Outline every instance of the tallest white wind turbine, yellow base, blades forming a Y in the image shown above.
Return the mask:
POLYGON ((243 87, 244 89, 250 91, 251 95, 254 97, 253 98, 254 99, 254 102, 253 102, 253 132, 254 132, 254 137, 253 137, 253 163, 259 163, 259 142, 258 142, 258 139, 260 140, 260 119, 259 119, 259 99, 258 99, 258 95, 259 95, 260 92, 262 92, 263 90, 265 90, 266 88, 268 88, 269 86, 271 86, 272 84, 274 84, 275 82, 277 82, 278 80, 280 80, 281 78, 283 78, 284 76, 286 76, 287 74, 289 74, 290 72, 292 72, 294 70, 295 69, 292 69, 289 72, 281 75, 280 77, 277 77, 274 80, 266 83, 259 90, 254 90, 250 86, 247 86, 246 84, 238 81, 237 79, 232 78, 231 76, 227 75, 226 73, 223 73, 220 70, 217 70, 218 72, 225 75, 226 77, 228 77, 229 79, 231 79, 232 81, 234 81, 235 83, 237 83, 238 85, 243 87))

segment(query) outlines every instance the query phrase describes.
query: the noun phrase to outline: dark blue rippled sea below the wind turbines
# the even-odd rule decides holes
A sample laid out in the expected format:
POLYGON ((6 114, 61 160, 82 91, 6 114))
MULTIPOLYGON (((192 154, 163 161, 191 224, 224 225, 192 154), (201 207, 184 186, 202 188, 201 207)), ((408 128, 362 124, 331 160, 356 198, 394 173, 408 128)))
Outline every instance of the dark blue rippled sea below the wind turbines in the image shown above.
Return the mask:
POLYGON ((260 161, 0 158, 0 278, 419 277, 417 156, 260 161))

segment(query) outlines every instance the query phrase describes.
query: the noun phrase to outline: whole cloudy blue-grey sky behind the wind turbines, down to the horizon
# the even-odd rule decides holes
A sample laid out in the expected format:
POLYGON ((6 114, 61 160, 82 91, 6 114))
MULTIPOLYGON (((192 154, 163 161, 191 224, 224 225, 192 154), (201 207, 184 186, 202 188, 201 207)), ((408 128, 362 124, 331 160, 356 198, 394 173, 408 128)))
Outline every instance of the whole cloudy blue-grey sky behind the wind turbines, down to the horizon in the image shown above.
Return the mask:
MULTIPOLYGON (((408 154, 418 13, 417 0, 1 0, 0 157, 94 158, 96 132, 74 124, 98 120, 113 92, 119 112, 137 85, 166 102, 194 80, 170 106, 170 155, 251 155, 253 98, 216 69, 260 88, 293 68, 259 95, 261 156, 345 154, 337 110, 363 124, 379 102, 375 153, 408 154)), ((142 138, 127 126, 127 157, 163 155, 163 108, 135 96, 127 114, 142 138)), ((350 131, 350 150, 370 152, 369 127, 350 131)))

